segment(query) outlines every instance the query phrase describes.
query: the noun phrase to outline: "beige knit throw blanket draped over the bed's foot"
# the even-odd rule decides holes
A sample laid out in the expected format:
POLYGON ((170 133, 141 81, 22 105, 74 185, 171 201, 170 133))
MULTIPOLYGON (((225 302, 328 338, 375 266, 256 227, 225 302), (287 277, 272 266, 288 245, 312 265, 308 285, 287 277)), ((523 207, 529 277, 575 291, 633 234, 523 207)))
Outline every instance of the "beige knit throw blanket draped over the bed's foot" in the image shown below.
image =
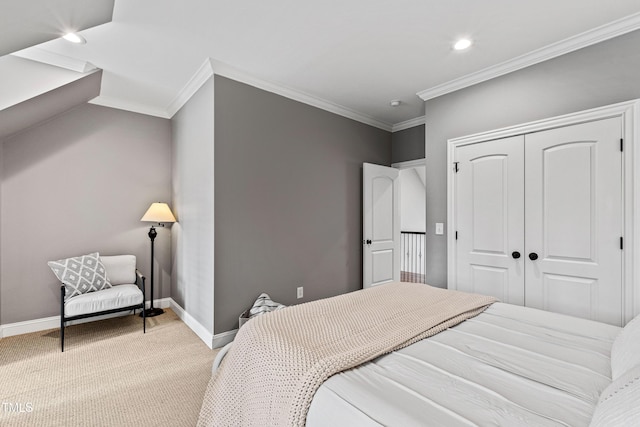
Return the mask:
POLYGON ((258 316, 207 387, 198 426, 304 426, 330 376, 432 336, 495 299, 389 283, 258 316))

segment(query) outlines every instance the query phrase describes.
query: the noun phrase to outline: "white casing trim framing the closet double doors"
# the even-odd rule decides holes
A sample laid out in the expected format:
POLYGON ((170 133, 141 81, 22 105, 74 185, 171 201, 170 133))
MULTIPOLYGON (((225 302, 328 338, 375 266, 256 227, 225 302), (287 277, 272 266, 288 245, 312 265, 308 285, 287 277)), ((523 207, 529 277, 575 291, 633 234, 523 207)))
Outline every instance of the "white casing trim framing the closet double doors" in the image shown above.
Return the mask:
MULTIPOLYGON (((449 283, 456 282, 455 263, 455 148, 467 144, 479 143, 510 136, 524 135, 542 130, 554 129, 601 120, 622 117, 624 135, 624 254, 623 281, 624 300, 623 320, 628 322, 640 314, 640 267, 636 267, 636 254, 640 254, 640 100, 626 101, 605 107, 580 111, 545 120, 509 126, 489 132, 450 139, 447 144, 447 274, 449 283)), ((455 286, 451 286, 455 289, 455 286)))

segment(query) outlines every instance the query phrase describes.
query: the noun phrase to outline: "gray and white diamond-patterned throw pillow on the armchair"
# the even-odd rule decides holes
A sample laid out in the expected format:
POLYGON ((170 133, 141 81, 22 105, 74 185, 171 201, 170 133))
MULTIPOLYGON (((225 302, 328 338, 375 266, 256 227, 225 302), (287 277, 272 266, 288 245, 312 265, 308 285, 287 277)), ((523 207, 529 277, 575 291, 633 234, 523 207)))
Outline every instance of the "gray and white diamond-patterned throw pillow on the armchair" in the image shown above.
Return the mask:
POLYGON ((65 301, 87 292, 111 287, 98 252, 47 263, 66 289, 65 301))

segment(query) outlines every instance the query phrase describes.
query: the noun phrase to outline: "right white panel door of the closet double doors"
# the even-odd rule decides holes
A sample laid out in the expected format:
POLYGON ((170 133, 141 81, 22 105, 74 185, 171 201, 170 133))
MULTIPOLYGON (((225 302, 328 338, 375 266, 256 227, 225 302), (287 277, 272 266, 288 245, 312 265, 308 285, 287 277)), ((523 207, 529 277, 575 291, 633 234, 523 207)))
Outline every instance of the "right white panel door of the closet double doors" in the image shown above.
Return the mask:
POLYGON ((619 118, 525 138, 526 305, 622 324, 619 118))

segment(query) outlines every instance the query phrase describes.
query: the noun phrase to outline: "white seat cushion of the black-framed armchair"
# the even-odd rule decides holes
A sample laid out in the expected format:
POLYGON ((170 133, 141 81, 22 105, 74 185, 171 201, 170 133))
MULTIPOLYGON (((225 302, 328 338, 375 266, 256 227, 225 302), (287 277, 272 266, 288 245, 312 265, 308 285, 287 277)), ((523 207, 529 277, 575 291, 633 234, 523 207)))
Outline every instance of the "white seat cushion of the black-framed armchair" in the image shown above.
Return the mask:
POLYGON ((96 313, 142 304, 142 291, 136 285, 118 285, 68 299, 64 303, 65 317, 96 313))

